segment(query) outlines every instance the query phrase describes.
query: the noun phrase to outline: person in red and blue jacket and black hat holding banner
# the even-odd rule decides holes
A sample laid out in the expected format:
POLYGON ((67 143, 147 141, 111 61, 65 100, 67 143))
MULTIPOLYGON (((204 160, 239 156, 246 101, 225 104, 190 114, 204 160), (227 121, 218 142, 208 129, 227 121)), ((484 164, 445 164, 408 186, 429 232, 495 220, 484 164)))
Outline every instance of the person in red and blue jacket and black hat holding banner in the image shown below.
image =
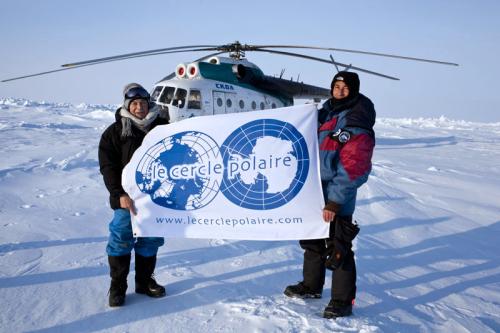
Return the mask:
POLYGON ((359 227, 352 215, 357 189, 368 180, 372 168, 376 116, 373 103, 359 93, 359 85, 356 73, 337 73, 331 84, 332 98, 319 110, 319 163, 326 202, 323 220, 330 223, 330 237, 300 241, 305 250, 304 279, 285 289, 289 297, 320 298, 326 268, 333 270, 325 318, 351 315, 356 297, 352 241, 359 227))

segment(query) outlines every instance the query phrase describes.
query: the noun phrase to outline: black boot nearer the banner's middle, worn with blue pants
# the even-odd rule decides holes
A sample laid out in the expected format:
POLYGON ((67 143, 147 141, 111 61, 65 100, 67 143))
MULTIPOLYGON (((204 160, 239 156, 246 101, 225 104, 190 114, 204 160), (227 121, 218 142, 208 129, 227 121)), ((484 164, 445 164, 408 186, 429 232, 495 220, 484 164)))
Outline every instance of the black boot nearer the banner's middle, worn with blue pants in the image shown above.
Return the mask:
POLYGON ((156 256, 143 257, 135 254, 135 292, 149 297, 163 297, 165 288, 156 283, 153 272, 156 266, 156 256))

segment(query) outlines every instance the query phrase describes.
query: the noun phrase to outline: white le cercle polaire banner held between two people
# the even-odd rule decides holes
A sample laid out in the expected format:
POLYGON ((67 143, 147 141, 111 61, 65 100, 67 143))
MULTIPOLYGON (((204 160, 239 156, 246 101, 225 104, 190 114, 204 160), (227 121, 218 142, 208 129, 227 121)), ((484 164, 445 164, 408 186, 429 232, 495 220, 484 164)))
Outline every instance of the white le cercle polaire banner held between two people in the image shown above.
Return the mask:
POLYGON ((186 119, 155 127, 122 174, 136 237, 328 237, 317 109, 186 119))

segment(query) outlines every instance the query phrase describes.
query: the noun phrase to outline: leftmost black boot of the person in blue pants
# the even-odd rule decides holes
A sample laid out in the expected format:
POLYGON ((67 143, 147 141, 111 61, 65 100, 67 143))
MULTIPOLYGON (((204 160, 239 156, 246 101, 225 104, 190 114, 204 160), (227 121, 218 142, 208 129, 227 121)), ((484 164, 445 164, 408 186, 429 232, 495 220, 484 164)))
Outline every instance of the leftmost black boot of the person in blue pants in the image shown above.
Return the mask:
POLYGON ((108 256, 109 275, 109 306, 122 306, 125 303, 127 291, 127 275, 130 269, 130 254, 125 256, 108 256))

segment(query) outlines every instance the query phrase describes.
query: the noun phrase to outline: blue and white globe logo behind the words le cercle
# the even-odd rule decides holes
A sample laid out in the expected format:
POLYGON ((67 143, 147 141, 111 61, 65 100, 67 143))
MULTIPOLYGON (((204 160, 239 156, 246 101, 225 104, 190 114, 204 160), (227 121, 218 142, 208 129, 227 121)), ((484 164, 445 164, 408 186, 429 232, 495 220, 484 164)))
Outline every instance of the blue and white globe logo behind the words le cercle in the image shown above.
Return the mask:
POLYGON ((201 132, 180 132, 150 147, 135 180, 141 192, 162 207, 194 210, 209 204, 222 180, 217 143, 201 132))

